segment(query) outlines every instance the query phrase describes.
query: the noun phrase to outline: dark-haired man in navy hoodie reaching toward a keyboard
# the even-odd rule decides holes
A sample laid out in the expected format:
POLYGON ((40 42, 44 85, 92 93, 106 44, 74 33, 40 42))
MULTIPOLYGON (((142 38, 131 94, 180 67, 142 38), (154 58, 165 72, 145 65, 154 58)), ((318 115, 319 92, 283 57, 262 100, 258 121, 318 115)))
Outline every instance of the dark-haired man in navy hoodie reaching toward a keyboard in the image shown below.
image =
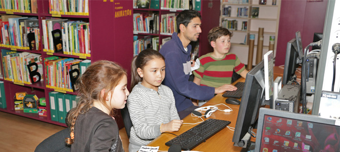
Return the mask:
POLYGON ((214 94, 236 90, 232 85, 218 88, 198 86, 189 81, 191 72, 190 51, 191 41, 197 41, 201 33, 200 14, 194 10, 184 10, 178 14, 178 33, 174 32, 172 40, 163 44, 159 52, 165 58, 165 79, 163 84, 171 88, 174 93, 176 108, 180 119, 188 116, 198 106, 193 105, 190 98, 209 100, 214 94))

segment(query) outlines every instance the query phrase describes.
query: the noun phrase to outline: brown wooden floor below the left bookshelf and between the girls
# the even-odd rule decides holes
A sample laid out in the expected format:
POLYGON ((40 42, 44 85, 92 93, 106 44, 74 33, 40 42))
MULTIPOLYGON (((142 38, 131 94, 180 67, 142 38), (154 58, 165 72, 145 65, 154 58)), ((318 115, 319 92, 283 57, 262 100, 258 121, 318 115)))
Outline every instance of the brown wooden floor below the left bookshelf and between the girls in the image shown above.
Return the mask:
MULTIPOLYGON (((64 128, 0 111, 0 151, 34 151, 40 142, 64 128)), ((119 134, 128 151, 125 128, 119 134)))

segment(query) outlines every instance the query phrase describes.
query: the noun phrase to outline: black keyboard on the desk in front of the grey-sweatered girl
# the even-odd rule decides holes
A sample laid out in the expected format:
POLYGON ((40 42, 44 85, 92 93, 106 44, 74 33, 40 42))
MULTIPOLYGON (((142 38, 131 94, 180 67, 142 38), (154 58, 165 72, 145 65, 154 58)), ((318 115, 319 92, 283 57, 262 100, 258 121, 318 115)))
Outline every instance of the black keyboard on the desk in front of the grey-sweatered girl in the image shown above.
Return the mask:
POLYGON ((183 150, 191 150, 200 143, 205 142, 208 138, 215 135, 229 124, 229 121, 208 119, 166 142, 165 145, 171 146, 173 144, 178 144, 183 150))

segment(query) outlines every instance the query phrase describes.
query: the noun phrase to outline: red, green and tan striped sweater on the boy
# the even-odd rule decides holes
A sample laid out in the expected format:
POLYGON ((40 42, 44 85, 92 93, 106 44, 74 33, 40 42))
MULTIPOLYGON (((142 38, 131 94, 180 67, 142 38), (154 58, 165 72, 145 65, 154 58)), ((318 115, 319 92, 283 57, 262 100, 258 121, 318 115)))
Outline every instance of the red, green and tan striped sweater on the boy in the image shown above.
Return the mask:
POLYGON ((245 69, 245 64, 233 53, 227 53, 223 58, 214 58, 212 53, 199 57, 199 68, 193 71, 199 78, 201 86, 220 87, 231 84, 233 70, 240 74, 245 69))

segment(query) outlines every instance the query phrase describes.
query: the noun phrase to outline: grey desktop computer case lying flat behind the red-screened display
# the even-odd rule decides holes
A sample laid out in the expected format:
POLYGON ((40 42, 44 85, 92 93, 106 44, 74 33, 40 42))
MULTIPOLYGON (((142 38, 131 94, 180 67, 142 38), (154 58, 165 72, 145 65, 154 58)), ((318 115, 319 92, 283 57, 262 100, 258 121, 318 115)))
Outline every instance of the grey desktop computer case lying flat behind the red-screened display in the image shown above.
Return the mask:
POLYGON ((275 100, 274 108, 297 112, 300 103, 300 85, 284 85, 275 100))

